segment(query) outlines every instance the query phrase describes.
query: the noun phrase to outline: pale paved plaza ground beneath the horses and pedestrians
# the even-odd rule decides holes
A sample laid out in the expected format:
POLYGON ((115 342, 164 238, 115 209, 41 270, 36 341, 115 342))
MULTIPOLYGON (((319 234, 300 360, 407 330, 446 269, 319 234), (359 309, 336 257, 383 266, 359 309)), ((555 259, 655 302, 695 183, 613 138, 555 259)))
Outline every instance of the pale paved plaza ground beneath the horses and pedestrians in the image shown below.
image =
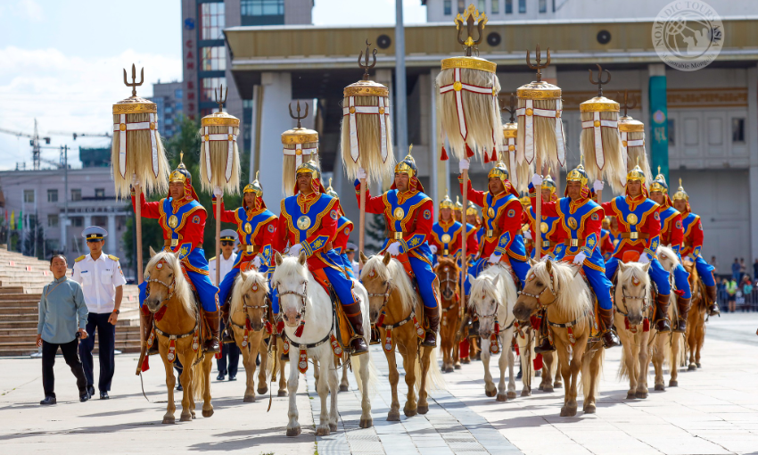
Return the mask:
MULTIPOLYGON (((212 373, 212 418, 161 425, 165 412, 163 369, 157 359, 144 374, 145 401, 136 356, 117 357, 111 400, 78 402, 73 376, 56 361, 58 404, 42 408, 40 360, 0 360, 0 447, 2 453, 186 453, 232 451, 259 454, 345 455, 421 453, 553 454, 728 454, 758 453, 758 315, 737 313, 708 325, 703 368, 682 371, 679 386, 651 392, 647 400, 626 400, 627 383, 616 380, 620 349, 606 352, 597 414, 558 416, 563 389, 534 391, 506 403, 484 395, 482 362, 444 375, 447 391, 432 393, 429 413, 387 422, 390 387, 386 361, 372 352, 382 374, 372 400, 373 428, 360 429, 358 391, 340 393, 337 432, 316 437, 320 401, 313 377, 300 382, 297 396, 302 434, 284 435, 287 398, 268 395, 243 403, 243 372, 236 382, 218 383, 212 373)), ((399 358, 400 359, 400 358, 399 358)), ((399 362, 400 363, 400 362, 399 362)), ((491 363, 493 374, 496 362, 491 363)), ((215 368, 214 368, 215 369, 215 368)), ((95 371, 96 371, 95 367, 95 371)), ((310 368, 309 372, 312 372, 310 368)), ((668 377, 666 378, 668 383, 668 377)), ((652 384, 652 376, 649 384, 652 384)), ((517 389, 521 384, 517 383, 517 389)), ((400 378, 401 405, 405 383, 400 378)), ((276 392, 276 391, 275 391, 276 392)), ((180 396, 180 393, 177 393, 180 396)), ((581 400, 580 400, 581 401, 581 400)), ((177 409, 177 422, 180 410, 177 409)))

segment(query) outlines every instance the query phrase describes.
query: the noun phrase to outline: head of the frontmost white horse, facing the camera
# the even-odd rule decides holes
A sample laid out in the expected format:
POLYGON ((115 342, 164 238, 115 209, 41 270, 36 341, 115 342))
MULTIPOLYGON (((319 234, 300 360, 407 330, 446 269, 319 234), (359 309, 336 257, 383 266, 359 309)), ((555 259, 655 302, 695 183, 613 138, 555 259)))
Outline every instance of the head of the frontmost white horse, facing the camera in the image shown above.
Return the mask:
POLYGON ((271 285, 279 297, 279 309, 287 327, 297 327, 305 317, 308 302, 308 267, 305 252, 297 258, 283 258, 276 252, 276 270, 271 277, 271 285))

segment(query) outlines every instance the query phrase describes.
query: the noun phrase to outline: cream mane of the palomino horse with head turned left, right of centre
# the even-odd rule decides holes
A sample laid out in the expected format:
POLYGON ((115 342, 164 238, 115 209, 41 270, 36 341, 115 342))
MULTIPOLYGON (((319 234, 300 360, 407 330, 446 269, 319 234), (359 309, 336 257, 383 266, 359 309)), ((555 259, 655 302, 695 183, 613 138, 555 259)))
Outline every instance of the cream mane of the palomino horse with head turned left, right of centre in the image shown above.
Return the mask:
MULTIPOLYGON (((584 279, 574 276, 574 268, 560 261, 553 261, 553 283, 558 283, 561 294, 556 300, 556 310, 561 311, 569 318, 579 319, 587 311, 592 310, 592 302, 589 298, 589 286, 584 279)), ((542 283, 549 285, 551 282, 548 274, 547 262, 540 261, 531 268, 542 283)))

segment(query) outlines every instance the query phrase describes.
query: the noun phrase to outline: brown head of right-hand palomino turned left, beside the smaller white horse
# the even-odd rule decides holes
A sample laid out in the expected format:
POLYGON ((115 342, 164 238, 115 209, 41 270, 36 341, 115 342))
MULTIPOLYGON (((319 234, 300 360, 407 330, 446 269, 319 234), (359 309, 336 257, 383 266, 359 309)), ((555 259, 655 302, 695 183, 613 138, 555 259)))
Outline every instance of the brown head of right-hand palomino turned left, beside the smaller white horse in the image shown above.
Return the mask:
MULTIPOLYGON (((542 308, 556 302, 561 294, 561 279, 556 274, 558 266, 553 261, 529 260, 531 269, 514 306, 514 316, 520 321, 528 320, 542 308)), ((573 265, 565 264, 565 267, 573 265)))

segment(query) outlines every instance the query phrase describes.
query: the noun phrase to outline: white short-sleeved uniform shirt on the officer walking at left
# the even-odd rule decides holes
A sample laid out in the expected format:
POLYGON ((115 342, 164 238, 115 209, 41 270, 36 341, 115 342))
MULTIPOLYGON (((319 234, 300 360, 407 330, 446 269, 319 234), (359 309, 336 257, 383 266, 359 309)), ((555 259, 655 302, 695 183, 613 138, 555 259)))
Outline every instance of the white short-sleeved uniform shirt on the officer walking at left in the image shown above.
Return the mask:
POLYGON ((112 312, 116 308, 116 287, 127 284, 119 259, 104 252, 97 261, 92 254, 78 258, 71 279, 81 285, 87 310, 93 313, 112 312))

